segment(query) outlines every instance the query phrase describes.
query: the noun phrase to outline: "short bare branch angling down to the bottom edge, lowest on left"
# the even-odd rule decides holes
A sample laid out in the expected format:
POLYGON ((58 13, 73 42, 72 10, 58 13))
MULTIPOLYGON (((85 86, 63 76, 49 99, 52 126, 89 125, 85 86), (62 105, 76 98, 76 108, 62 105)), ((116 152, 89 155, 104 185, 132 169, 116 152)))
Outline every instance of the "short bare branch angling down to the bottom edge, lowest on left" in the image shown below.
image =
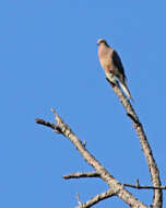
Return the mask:
POLYGON ((115 193, 112 190, 107 190, 105 193, 102 193, 93 198, 91 198, 88 201, 81 204, 80 206, 75 207, 75 208, 90 208, 94 205, 96 205, 97 203, 99 203, 100 200, 104 200, 106 198, 112 197, 115 196, 115 193))

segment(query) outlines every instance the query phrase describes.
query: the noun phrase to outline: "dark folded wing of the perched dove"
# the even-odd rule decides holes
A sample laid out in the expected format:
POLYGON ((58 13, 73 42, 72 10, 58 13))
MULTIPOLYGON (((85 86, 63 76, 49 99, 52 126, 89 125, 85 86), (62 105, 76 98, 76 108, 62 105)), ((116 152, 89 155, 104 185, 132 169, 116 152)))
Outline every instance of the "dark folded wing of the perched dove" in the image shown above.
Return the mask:
POLYGON ((121 59, 118 55, 118 53, 116 50, 112 51, 111 54, 111 58, 112 58, 112 63, 115 65, 116 68, 118 68, 118 70, 120 71, 120 73, 122 74, 123 79, 126 80, 126 74, 124 74, 124 69, 121 62, 121 59))

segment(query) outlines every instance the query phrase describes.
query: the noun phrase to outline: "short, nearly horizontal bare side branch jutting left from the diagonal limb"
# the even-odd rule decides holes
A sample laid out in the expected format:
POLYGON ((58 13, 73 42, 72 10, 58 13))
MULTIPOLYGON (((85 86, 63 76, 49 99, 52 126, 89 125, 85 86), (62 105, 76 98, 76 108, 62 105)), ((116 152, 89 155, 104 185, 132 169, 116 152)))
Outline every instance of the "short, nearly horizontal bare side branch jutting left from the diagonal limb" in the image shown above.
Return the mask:
POLYGON ((99 177, 100 175, 95 172, 87 172, 87 173, 71 173, 69 175, 63 175, 64 180, 71 180, 71 178, 80 178, 80 177, 99 177))

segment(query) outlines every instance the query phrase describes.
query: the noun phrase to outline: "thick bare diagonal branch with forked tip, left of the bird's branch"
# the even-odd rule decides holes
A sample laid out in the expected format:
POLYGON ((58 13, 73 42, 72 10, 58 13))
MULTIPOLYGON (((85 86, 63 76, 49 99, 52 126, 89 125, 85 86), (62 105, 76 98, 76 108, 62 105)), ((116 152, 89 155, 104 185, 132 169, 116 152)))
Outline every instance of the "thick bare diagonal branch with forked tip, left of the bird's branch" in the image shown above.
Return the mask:
MULTIPOLYGON (((129 193, 117 180, 115 180, 114 176, 110 175, 109 172, 94 158, 94 155, 92 155, 87 151, 84 145, 79 140, 79 138, 74 135, 71 128, 60 118, 60 116, 57 113, 55 113, 55 115, 56 115, 57 125, 51 126, 51 128, 55 129, 56 127, 56 129, 58 129, 58 132, 61 132, 76 147, 76 149, 80 151, 85 161, 96 170, 96 172, 100 175, 100 178, 103 178, 109 185, 111 190, 131 207, 147 208, 144 204, 142 204, 139 199, 137 199, 131 193, 129 193)), ((37 122, 38 120, 39 119, 37 119, 37 122)), ((47 123, 44 122, 39 124, 47 126, 46 125, 47 123)))

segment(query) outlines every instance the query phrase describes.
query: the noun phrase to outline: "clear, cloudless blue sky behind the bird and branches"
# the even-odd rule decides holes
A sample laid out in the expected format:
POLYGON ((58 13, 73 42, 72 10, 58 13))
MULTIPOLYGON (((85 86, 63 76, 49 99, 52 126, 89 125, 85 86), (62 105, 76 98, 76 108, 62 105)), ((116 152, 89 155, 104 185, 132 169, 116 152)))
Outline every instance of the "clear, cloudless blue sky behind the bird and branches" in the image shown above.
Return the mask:
MULTIPOLYGON (((150 185, 130 119, 105 80, 96 42, 106 38, 126 68, 134 108, 166 184, 165 1, 0 2, 0 206, 75 207, 105 192, 69 140, 35 124, 55 107, 87 149, 121 183, 150 185)), ((146 205, 151 190, 131 190, 146 205)), ((110 198, 95 207, 128 207, 110 198)), ((164 198, 164 207, 166 199, 164 198)))

